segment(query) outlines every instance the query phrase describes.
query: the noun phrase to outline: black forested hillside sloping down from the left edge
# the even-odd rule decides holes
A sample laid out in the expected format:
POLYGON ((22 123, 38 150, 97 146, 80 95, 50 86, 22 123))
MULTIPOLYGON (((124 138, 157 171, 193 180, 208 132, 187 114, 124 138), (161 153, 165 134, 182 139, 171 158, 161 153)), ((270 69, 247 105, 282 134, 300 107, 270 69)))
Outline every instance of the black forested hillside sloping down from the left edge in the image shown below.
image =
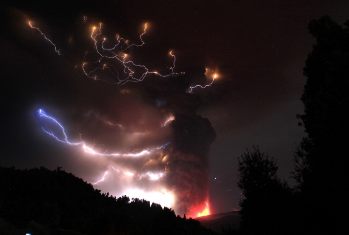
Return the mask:
POLYGON ((101 193, 60 168, 0 167, 0 189, 2 235, 216 234, 171 208, 101 193))

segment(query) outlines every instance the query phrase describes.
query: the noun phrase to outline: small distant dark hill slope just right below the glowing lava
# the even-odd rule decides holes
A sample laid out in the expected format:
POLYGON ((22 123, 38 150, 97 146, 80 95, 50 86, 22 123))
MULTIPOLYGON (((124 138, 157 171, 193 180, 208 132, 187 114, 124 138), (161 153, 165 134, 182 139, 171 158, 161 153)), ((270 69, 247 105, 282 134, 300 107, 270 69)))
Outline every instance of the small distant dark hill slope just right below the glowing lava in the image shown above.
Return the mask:
POLYGON ((214 215, 198 217, 195 220, 215 232, 221 233, 222 228, 228 229, 229 227, 234 230, 238 230, 240 227, 240 212, 232 211, 226 213, 219 213, 214 215))

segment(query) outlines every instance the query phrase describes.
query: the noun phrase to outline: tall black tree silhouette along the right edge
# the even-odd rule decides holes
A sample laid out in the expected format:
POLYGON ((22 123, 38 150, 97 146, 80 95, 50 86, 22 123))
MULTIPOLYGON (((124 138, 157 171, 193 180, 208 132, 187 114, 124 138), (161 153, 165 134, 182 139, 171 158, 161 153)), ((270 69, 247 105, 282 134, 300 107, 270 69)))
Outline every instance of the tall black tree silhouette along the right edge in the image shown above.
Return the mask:
MULTIPOLYGON (((345 26, 349 27, 349 21, 345 26)), ((296 152, 306 234, 348 234, 349 29, 329 16, 309 23, 317 39, 304 67, 298 115, 307 137, 296 152)))

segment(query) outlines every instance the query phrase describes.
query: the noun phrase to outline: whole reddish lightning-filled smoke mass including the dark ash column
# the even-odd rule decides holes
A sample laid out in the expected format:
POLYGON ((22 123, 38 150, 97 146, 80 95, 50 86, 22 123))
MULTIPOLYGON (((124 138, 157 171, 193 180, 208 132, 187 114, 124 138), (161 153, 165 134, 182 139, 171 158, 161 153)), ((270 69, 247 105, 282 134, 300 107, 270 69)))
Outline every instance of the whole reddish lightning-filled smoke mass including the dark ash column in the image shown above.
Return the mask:
POLYGON ((189 92, 207 83, 205 67, 176 72, 171 52, 168 69, 154 72, 139 62, 142 37, 139 44, 119 37, 108 44, 101 27, 86 35, 94 47, 79 65, 79 92, 70 95, 69 106, 51 103, 35 111, 47 138, 76 144, 95 188, 145 198, 181 215, 208 212, 208 152, 216 134, 195 112, 200 95, 189 92))

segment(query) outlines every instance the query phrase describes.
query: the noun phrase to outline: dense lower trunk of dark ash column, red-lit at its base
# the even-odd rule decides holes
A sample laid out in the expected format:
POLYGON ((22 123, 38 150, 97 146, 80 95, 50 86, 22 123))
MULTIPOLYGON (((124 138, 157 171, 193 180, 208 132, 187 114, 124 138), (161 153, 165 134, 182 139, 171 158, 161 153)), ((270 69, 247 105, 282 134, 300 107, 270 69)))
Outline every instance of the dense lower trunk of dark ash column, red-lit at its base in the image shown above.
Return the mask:
POLYGON ((216 134, 208 119, 177 113, 173 122, 174 151, 169 161, 169 183, 177 189, 180 212, 205 209, 208 199, 208 152, 216 134))

